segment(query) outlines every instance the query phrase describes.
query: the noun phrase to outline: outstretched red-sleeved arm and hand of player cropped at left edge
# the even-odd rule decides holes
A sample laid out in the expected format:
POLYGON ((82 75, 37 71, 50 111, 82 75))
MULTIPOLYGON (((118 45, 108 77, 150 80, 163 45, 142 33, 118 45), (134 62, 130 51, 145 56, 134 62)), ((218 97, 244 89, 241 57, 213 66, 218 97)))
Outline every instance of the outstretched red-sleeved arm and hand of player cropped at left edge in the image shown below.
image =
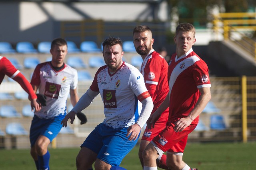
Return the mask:
POLYGON ((20 86, 28 93, 28 98, 31 101, 31 110, 38 112, 41 107, 36 102, 37 96, 33 91, 31 84, 28 82, 26 77, 12 65, 12 63, 6 58, 0 56, 0 84, 2 83, 4 76, 7 75, 16 82, 20 84, 20 86))

